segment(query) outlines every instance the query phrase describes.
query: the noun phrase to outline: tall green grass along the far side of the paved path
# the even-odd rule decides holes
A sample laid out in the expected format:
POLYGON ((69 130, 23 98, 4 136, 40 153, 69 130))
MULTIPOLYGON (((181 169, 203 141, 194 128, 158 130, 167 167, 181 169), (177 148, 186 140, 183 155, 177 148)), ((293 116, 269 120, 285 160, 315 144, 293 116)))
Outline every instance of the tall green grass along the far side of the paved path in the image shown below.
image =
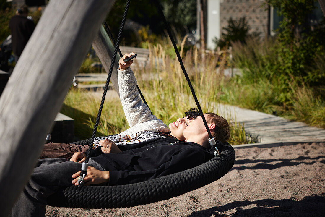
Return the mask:
POLYGON ((242 76, 221 88, 221 101, 325 128, 324 58, 315 55, 304 73, 291 74, 279 66, 278 52, 272 39, 233 43, 233 64, 242 76))

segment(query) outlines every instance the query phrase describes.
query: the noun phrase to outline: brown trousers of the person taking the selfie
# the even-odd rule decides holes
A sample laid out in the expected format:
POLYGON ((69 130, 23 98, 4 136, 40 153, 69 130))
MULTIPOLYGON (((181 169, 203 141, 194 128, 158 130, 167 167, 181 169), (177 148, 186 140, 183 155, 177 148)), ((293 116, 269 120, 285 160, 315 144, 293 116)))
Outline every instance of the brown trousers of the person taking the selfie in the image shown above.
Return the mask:
POLYGON ((86 152, 89 145, 45 143, 39 159, 43 158, 66 158, 70 159, 75 152, 86 152))

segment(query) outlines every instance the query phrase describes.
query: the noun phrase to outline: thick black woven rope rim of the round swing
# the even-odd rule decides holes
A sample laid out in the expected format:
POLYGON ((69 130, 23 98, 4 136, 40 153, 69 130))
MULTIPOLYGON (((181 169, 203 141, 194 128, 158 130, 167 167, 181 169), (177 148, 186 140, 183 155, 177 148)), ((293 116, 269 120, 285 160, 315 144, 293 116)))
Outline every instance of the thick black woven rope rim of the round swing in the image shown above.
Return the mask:
MULTIPOLYGON (((87 140, 75 142, 88 144, 87 140)), ((176 197, 223 177, 234 165, 235 151, 226 143, 216 156, 192 169, 160 178, 116 186, 70 186, 47 199, 47 205, 79 208, 124 208, 176 197)))

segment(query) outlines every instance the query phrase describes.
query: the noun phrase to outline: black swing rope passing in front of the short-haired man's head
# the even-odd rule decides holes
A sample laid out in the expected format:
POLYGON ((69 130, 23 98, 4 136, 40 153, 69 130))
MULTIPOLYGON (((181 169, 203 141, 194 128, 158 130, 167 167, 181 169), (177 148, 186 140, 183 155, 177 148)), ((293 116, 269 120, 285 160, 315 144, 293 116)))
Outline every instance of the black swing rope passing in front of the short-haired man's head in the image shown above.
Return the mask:
POLYGON ((170 38, 170 40, 172 41, 172 44, 173 44, 174 49, 175 49, 175 52, 176 52, 176 56, 177 56, 178 61, 179 61, 180 65, 181 65, 181 68, 182 68, 182 70, 183 70, 183 73, 184 73, 184 75, 185 75, 185 77, 186 77, 186 80, 187 80, 188 86, 189 86, 189 88, 190 88, 190 90, 191 90, 191 92, 192 92, 192 95, 193 95, 194 101, 195 101, 195 103, 196 103, 196 105, 197 105, 197 107, 198 107, 198 110, 199 110, 200 114, 201 114, 201 117, 202 117, 202 120, 203 120, 204 126, 205 126, 206 130, 208 131, 208 134, 209 134, 210 139, 212 139, 213 137, 212 137, 212 135, 211 135, 210 129, 209 129, 209 127, 208 127, 208 124, 206 123, 206 120, 205 120, 205 117, 204 117, 204 115, 203 115, 203 112, 202 112, 202 109, 201 109, 200 103, 199 103, 199 101, 198 101, 198 98, 196 97, 196 94, 195 94, 195 92, 194 92, 194 89, 193 89, 192 83, 191 83, 191 81, 189 80, 188 74, 187 74, 187 72, 186 72, 186 70, 185 70, 185 67, 184 67, 184 64, 183 64, 182 58, 181 58, 181 56, 180 56, 180 54, 179 54, 179 52, 178 52, 178 49, 177 49, 177 46, 176 46, 175 40, 174 40, 173 35, 172 35, 172 32, 171 32, 171 30, 170 30, 170 28, 169 28, 169 25, 168 25, 167 20, 166 20, 164 14, 163 14, 163 12, 162 12, 162 8, 161 8, 161 6, 160 6, 158 0, 155 0, 155 4, 156 4, 157 9, 158 9, 158 11, 159 11, 159 13, 160 13, 160 16, 162 17, 162 20, 163 20, 163 22, 164 22, 164 24, 165 24, 165 27, 166 27, 167 33, 168 33, 168 35, 169 35, 169 38, 170 38))

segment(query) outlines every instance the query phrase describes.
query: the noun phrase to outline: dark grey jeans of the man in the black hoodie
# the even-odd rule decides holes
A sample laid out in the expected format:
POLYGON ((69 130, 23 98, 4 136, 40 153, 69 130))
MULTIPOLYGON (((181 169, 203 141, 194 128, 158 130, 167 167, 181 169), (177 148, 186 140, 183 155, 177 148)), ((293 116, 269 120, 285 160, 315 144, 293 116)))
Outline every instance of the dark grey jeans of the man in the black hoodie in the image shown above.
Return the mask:
MULTIPOLYGON (((92 159, 89 166, 104 170, 92 159)), ((45 216, 46 198, 60 187, 72 185, 72 174, 81 170, 81 163, 64 158, 40 159, 12 209, 12 217, 45 216)))

